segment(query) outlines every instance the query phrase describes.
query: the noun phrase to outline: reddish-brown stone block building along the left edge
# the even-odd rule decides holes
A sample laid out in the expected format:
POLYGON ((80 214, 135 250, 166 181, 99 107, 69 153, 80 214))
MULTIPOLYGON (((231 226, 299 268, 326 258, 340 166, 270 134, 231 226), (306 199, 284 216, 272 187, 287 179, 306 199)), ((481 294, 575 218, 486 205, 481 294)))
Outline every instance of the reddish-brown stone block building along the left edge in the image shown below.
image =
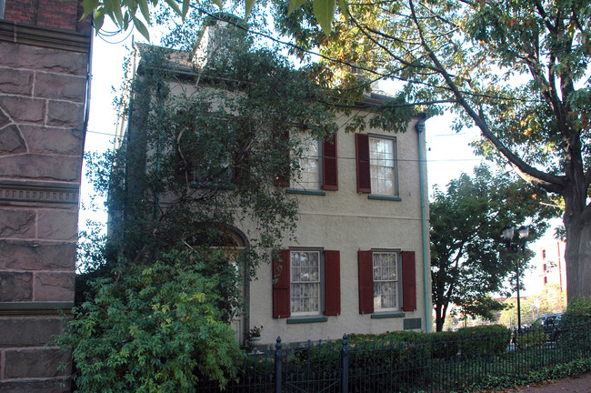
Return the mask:
POLYGON ((46 347, 74 304, 90 18, 60 0, 0 0, 0 391, 69 391, 46 347))

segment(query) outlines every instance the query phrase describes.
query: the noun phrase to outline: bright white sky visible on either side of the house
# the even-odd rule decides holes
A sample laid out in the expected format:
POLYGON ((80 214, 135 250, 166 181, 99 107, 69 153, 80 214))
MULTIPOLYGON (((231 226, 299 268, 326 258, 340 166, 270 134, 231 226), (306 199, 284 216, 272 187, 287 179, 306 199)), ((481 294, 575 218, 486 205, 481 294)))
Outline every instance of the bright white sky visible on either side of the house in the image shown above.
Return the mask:
MULTIPOLYGON (((113 148, 116 108, 114 100, 121 95, 120 86, 124 77, 125 56, 129 54, 132 39, 136 42, 145 40, 137 32, 124 32, 111 35, 115 27, 105 21, 102 35, 95 35, 93 43, 92 61, 92 91, 90 100, 90 118, 85 139, 85 152, 104 152, 113 148)), ((151 35, 154 35, 152 31, 151 35)), ((157 38, 153 36, 153 42, 157 38)), ((468 144, 476 138, 476 128, 463 130, 459 134, 451 129, 452 116, 436 116, 426 121, 426 159, 429 192, 437 185, 445 189, 447 183, 460 176, 462 172, 472 174, 472 169, 482 162, 482 158, 475 156, 468 144)), ((92 186, 85 179, 83 167, 83 181, 81 185, 81 200, 88 206, 92 186)), ((100 203, 100 201, 99 201, 100 203)), ((84 228, 87 219, 106 222, 106 212, 91 212, 81 210, 79 227, 84 228)), ((556 227, 556 225, 553 225, 556 227)), ((545 241, 552 238, 546 234, 545 241)), ((536 244, 531 246, 536 250, 536 244)), ((535 260, 538 260, 536 257, 535 260)), ((525 296, 535 290, 536 272, 526 275, 525 296)))

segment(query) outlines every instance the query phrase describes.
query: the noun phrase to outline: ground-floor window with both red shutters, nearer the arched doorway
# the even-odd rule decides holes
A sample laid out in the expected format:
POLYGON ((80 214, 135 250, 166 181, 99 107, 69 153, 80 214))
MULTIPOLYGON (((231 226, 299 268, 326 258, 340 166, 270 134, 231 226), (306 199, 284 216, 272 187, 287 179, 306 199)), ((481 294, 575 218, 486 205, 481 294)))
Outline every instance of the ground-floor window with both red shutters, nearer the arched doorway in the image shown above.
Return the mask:
POLYGON ((340 252, 292 248, 273 259, 273 317, 341 313, 340 252))

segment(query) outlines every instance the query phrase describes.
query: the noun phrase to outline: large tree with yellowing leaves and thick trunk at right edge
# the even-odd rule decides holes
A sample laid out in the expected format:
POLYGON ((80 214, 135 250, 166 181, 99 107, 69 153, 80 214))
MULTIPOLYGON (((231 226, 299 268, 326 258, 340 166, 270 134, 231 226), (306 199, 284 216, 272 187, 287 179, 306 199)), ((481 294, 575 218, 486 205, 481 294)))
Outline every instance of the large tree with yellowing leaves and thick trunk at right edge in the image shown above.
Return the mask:
POLYGON ((398 80, 409 105, 449 108, 458 128, 480 129, 477 151, 551 193, 566 228, 568 297, 591 297, 588 2, 358 2, 329 39, 309 5, 287 10, 277 7, 277 25, 295 53, 319 48, 325 75, 398 80))

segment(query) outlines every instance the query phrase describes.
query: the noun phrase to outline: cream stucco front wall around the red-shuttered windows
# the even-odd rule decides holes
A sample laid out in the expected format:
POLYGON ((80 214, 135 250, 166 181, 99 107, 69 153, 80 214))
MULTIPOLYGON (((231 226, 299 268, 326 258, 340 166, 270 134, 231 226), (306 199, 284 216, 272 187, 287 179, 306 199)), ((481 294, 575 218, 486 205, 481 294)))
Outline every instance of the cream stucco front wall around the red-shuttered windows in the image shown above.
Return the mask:
MULTIPOLYGON (((343 131, 338 134, 339 189, 326 191, 326 196, 296 196, 300 211, 295 231, 297 241, 285 242, 284 248, 323 247, 340 251, 342 314, 327 317, 325 322, 302 324, 288 324, 287 318, 273 318, 272 265, 261 265, 258 279, 250 284, 250 312, 246 320, 250 327, 265 327, 261 335, 263 344, 275 343, 278 336, 285 342, 295 342, 336 339, 344 333, 402 330, 404 318, 421 318, 423 330, 426 323, 431 323, 425 321, 419 144, 415 124, 413 122, 406 133, 396 135, 400 201, 369 199, 367 194, 357 193, 355 135, 343 131), (406 311, 405 317, 379 319, 359 314, 357 251, 372 248, 415 251, 416 311, 406 311)), ((366 132, 388 135, 377 129, 366 132)), ((430 283, 427 285, 430 299, 430 283)), ((430 304, 427 307, 430 309, 430 304)))

